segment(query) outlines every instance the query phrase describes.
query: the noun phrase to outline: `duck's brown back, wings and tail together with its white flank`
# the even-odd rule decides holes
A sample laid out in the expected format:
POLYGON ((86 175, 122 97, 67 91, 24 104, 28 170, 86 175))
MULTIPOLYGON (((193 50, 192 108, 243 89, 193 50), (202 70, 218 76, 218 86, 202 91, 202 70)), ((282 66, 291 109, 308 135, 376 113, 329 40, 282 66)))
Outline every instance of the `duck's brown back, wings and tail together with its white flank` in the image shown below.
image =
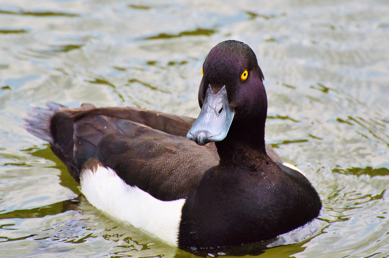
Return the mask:
POLYGON ((26 129, 50 143, 88 201, 110 217, 177 245, 181 209, 215 146, 182 136, 195 119, 135 108, 33 109, 26 129))

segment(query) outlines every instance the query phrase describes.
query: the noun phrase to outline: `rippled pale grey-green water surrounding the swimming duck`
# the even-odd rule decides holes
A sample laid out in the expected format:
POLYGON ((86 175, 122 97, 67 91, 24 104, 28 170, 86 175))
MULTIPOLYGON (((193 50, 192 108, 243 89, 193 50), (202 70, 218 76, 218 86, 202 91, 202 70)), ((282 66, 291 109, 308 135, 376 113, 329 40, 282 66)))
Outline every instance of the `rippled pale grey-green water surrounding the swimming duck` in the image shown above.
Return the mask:
POLYGON ((237 39, 265 74, 267 142, 324 205, 315 237, 259 256, 388 257, 388 13, 387 0, 2 0, 0 256, 192 256, 92 207, 21 117, 47 100, 196 117, 206 54, 237 39))

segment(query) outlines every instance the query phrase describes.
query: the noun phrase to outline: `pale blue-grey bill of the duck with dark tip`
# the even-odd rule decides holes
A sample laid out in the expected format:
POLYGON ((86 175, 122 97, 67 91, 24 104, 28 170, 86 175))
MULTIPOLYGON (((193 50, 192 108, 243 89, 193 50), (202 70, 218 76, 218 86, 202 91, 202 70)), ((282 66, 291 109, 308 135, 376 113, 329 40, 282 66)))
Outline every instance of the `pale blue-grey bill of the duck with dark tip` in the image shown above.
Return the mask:
POLYGON ((226 86, 214 94, 209 85, 200 114, 186 137, 201 146, 219 142, 226 138, 233 118, 234 110, 228 104, 226 86))

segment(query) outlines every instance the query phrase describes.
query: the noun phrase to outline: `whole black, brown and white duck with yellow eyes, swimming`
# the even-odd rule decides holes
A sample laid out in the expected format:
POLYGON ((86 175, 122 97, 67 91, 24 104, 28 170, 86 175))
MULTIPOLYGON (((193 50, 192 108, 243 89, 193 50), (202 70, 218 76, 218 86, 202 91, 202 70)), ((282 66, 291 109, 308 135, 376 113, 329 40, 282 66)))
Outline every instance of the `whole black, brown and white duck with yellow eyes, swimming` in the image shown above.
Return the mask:
POLYGON ((184 248, 259 242, 321 209, 308 179, 265 145, 262 80, 252 49, 228 40, 204 61, 195 123, 143 109, 48 104, 29 114, 26 129, 50 142, 88 201, 114 218, 184 248))

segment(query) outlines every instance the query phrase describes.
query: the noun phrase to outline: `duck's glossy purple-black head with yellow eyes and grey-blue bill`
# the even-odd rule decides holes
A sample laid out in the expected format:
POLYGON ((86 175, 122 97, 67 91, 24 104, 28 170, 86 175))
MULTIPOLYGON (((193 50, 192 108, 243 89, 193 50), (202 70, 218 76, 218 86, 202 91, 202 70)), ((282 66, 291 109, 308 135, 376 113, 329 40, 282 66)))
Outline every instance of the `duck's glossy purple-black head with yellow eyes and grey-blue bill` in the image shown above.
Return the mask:
POLYGON ((201 111, 187 138, 205 145, 223 141, 234 128, 234 134, 244 135, 256 129, 264 139, 267 98, 263 73, 252 49, 235 40, 221 42, 209 52, 202 73, 198 92, 201 111))

